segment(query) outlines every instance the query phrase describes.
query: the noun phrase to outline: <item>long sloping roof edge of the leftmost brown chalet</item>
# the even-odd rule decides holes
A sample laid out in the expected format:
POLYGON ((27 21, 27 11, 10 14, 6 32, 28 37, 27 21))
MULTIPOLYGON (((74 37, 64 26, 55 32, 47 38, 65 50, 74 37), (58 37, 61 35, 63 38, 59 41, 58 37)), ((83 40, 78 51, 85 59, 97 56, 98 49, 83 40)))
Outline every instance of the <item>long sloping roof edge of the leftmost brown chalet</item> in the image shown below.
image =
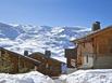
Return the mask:
POLYGON ((0 51, 7 51, 8 53, 14 54, 14 55, 12 55, 12 56, 22 57, 22 58, 24 58, 24 59, 27 59, 27 60, 32 61, 32 63, 35 64, 35 65, 39 65, 39 64, 40 64, 40 61, 37 60, 37 59, 34 59, 34 58, 30 58, 30 57, 28 57, 28 56, 24 56, 24 55, 17 54, 17 53, 15 53, 15 52, 9 51, 9 50, 3 49, 3 47, 0 47, 0 51))

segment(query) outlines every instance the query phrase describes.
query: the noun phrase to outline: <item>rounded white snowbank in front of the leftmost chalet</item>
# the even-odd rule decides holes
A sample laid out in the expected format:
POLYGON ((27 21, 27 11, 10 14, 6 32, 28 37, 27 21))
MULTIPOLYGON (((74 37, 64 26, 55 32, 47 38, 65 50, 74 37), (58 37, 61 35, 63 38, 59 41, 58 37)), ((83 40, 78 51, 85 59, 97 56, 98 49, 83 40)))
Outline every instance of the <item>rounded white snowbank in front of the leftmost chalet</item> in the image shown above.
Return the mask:
POLYGON ((53 80, 37 71, 22 74, 0 73, 0 83, 53 83, 53 80))

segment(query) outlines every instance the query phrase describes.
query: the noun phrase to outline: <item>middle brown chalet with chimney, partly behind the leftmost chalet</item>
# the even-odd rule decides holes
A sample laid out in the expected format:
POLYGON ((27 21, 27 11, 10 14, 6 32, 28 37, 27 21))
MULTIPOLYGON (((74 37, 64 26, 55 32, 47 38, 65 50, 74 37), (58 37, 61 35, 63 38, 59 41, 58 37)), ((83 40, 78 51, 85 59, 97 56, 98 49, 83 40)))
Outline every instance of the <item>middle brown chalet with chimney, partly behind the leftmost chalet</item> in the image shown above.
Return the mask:
POLYGON ((50 51, 46 51, 45 54, 37 52, 29 55, 29 57, 41 63, 37 67, 37 71, 49 77, 58 77, 63 72, 62 67, 65 66, 65 63, 51 58, 50 56, 50 51))

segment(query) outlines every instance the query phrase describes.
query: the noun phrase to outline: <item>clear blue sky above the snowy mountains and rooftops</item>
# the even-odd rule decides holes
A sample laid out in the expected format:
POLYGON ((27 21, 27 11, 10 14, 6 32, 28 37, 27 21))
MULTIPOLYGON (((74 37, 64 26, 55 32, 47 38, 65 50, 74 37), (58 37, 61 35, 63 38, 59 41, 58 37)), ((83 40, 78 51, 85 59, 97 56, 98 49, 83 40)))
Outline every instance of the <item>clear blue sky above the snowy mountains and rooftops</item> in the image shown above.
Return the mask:
POLYGON ((112 24, 112 0, 0 0, 0 22, 90 27, 112 24))

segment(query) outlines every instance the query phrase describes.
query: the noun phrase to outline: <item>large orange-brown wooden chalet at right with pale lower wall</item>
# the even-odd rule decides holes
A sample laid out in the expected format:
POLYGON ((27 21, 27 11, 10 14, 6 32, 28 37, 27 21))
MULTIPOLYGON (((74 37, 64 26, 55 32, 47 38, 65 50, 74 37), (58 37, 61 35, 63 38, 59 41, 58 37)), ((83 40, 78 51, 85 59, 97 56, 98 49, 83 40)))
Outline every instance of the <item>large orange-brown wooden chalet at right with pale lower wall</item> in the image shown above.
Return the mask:
POLYGON ((96 22, 90 33, 73 42, 77 46, 77 68, 112 68, 112 26, 100 29, 96 22))

